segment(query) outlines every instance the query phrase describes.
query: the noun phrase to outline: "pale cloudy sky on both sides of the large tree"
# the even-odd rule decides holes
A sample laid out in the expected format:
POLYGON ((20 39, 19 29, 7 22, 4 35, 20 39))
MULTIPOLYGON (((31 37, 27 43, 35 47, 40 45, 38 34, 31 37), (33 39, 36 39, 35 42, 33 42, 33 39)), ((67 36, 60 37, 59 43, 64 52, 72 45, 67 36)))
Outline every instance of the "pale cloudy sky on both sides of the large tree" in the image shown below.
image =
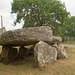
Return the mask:
MULTIPOLYGON (((3 26, 6 30, 14 30, 22 28, 23 23, 14 25, 16 19, 15 14, 11 14, 11 2, 13 0, 0 0, 0 17, 3 18, 3 26)), ((60 0, 65 3, 67 11, 70 12, 71 16, 75 16, 75 0, 60 0)), ((0 18, 0 28, 1 28, 1 18, 0 18)))

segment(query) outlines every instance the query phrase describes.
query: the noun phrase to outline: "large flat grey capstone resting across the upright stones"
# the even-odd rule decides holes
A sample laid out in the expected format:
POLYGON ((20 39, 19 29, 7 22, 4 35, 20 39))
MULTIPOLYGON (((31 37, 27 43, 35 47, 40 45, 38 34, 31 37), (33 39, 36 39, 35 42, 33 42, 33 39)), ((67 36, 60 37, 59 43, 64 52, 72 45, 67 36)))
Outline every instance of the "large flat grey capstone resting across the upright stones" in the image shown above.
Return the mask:
POLYGON ((0 45, 32 45, 39 41, 46 43, 60 43, 60 37, 54 37, 52 29, 49 26, 31 27, 7 31, 0 36, 0 45))

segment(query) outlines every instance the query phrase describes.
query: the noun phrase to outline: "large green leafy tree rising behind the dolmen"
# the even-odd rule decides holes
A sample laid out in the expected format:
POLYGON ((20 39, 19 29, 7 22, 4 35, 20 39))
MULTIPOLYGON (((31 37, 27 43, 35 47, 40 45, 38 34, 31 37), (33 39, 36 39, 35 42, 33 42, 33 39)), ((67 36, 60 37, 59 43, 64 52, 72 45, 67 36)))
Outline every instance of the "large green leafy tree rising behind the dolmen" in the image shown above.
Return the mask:
POLYGON ((12 13, 17 22, 24 21, 23 27, 51 26, 55 35, 69 15, 64 3, 58 0, 13 0, 12 13))

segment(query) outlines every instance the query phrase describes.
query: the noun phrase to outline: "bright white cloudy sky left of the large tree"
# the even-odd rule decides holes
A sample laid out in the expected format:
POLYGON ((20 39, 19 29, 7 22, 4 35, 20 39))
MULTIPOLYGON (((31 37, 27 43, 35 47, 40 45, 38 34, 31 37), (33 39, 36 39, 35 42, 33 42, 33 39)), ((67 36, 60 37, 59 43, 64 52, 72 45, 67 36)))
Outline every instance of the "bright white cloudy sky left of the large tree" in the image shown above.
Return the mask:
MULTIPOLYGON (((6 30, 13 30, 13 29, 18 29, 22 28, 23 23, 17 24, 16 26, 13 26, 14 19, 12 18, 11 15, 11 2, 13 0, 0 0, 0 16, 3 16, 3 26, 6 28, 6 30)), ((1 18, 0 18, 1 20, 1 18)), ((0 28, 1 28, 1 21, 0 21, 0 28)))

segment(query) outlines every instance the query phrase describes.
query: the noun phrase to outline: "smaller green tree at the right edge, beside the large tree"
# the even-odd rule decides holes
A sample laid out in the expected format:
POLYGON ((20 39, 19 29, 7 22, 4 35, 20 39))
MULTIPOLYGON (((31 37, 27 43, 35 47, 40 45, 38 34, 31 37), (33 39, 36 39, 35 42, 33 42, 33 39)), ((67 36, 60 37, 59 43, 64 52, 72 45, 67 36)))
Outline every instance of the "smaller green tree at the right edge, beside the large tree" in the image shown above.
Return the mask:
POLYGON ((65 36, 75 37, 75 16, 67 18, 65 21, 65 36))

